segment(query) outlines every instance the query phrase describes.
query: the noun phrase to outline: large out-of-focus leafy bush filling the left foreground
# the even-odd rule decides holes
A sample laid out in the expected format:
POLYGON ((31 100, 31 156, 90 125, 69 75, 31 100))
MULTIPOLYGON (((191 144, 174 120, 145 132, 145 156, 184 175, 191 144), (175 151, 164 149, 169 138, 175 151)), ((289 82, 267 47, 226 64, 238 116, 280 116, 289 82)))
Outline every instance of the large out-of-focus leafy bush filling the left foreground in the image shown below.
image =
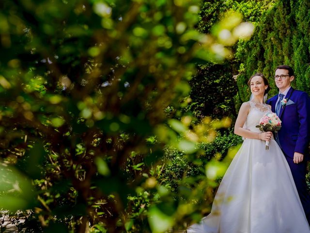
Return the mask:
POLYGON ((10 177, 1 185, 18 184, 3 185, 0 200, 23 211, 23 229, 159 233, 210 210, 233 152, 224 165, 215 158, 220 173, 206 179, 199 145, 231 120, 182 110, 197 66, 223 62, 249 36, 239 13, 204 34, 198 0, 2 0, 0 8, 0 155, 10 177), (171 173, 174 159, 180 169, 171 173), (191 164, 197 171, 186 173, 191 164))

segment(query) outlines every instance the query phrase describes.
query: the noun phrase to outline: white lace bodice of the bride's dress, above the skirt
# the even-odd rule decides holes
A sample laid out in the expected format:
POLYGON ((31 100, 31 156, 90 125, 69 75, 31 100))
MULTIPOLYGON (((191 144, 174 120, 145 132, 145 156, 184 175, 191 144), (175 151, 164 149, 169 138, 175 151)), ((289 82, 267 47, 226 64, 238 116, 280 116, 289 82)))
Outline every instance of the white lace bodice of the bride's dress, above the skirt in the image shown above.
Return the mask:
POLYGON ((250 110, 243 128, 253 132, 261 132, 256 126, 260 123, 260 119, 264 114, 271 113, 271 109, 265 103, 260 104, 249 101, 249 104, 250 110))

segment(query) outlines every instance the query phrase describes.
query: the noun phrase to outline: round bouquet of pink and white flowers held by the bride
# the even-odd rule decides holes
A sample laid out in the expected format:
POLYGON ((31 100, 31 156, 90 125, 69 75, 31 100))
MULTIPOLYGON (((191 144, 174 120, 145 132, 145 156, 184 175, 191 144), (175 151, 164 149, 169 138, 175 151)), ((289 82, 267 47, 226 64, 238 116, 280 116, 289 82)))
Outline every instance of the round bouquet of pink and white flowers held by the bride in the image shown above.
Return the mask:
MULTIPOLYGON (((281 129, 281 120, 275 113, 267 113, 260 119, 260 124, 256 126, 263 132, 278 132, 281 129)), ((266 141, 265 149, 269 149, 269 141, 266 141)))

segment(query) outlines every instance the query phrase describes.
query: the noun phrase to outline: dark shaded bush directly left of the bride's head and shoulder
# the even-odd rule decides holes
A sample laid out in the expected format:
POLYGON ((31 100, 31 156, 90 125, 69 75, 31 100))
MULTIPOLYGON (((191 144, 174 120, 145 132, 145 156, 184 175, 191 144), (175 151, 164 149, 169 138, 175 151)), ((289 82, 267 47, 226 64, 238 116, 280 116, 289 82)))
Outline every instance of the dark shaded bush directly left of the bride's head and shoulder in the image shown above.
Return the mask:
POLYGON ((234 96, 237 93, 237 85, 232 75, 232 66, 229 62, 199 66, 198 72, 189 81, 192 101, 186 110, 198 118, 230 116, 234 119, 236 116, 234 96))

